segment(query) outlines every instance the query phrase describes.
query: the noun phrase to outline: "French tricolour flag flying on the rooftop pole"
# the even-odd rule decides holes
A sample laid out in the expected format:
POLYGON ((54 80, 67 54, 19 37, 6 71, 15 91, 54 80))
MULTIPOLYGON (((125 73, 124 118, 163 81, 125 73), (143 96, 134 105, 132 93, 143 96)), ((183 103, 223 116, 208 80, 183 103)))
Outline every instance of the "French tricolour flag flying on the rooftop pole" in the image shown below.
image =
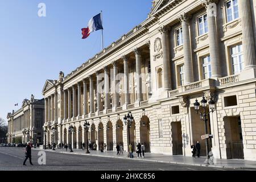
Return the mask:
POLYGON ((89 20, 88 27, 87 28, 82 28, 82 39, 88 38, 90 33, 97 31, 97 30, 102 30, 102 19, 101 19, 101 14, 97 14, 96 16, 93 16, 89 20))

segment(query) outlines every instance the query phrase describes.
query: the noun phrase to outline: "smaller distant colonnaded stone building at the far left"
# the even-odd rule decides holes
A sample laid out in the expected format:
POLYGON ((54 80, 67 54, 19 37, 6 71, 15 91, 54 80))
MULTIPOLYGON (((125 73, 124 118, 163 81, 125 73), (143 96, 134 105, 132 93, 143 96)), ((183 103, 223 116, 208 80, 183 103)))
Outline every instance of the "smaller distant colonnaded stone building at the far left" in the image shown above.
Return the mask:
POLYGON ((7 114, 9 143, 43 142, 44 98, 24 99, 19 110, 7 114))

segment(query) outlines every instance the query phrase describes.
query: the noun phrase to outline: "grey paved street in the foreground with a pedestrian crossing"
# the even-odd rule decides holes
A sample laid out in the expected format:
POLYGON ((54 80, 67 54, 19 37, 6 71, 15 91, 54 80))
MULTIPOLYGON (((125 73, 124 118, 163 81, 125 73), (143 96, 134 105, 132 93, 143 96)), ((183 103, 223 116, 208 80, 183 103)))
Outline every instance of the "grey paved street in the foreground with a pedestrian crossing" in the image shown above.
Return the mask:
POLYGON ((24 148, 16 147, 0 147, 0 171, 6 170, 35 170, 35 171, 52 171, 52 170, 148 170, 148 171, 226 171, 232 170, 227 168, 209 168, 200 166, 184 166, 178 164, 156 163, 138 160, 104 158, 100 156, 88 155, 72 155, 61 154, 58 152, 46 151, 46 165, 38 164, 38 152, 40 150, 32 149, 32 163, 35 166, 30 166, 27 161, 27 166, 22 166, 24 160, 24 148))

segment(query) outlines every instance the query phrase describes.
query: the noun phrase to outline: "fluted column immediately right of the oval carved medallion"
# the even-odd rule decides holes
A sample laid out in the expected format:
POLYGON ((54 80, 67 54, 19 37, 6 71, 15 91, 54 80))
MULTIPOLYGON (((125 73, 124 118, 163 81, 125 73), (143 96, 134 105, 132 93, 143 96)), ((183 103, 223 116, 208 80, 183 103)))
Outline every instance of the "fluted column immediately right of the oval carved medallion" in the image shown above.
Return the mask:
POLYGON ((171 64, 170 64, 170 45, 169 30, 167 27, 160 27, 163 41, 163 78, 164 90, 171 90, 171 64))

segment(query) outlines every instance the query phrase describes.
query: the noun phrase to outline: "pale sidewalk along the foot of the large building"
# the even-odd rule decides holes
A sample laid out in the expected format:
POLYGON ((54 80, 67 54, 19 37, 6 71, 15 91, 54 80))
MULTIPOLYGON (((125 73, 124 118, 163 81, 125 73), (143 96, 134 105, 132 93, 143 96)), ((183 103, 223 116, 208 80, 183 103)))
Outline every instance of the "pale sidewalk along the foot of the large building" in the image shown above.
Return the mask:
MULTIPOLYGON (((36 148, 36 150, 42 150, 36 148)), ((47 150, 52 151, 52 150, 47 150)), ((90 154, 86 154, 86 150, 77 150, 73 149, 73 152, 69 152, 61 149, 56 149, 52 152, 60 152, 64 154, 73 154, 73 155, 91 155, 91 156, 100 156, 105 158, 118 158, 118 159, 127 159, 127 160, 142 160, 148 162, 159 162, 159 163, 171 163, 171 164, 183 164, 183 165, 191 165, 191 166, 204 166, 204 167, 218 167, 218 168, 240 168, 240 169, 254 169, 256 170, 256 162, 249 160, 238 160, 238 159, 217 159, 213 165, 205 164, 205 157, 202 158, 192 158, 188 156, 182 155, 163 155, 163 154, 151 154, 145 153, 145 158, 137 158, 136 152, 133 153, 134 158, 128 157, 128 152, 123 152, 123 155, 117 155, 115 151, 90 151, 90 154)))

